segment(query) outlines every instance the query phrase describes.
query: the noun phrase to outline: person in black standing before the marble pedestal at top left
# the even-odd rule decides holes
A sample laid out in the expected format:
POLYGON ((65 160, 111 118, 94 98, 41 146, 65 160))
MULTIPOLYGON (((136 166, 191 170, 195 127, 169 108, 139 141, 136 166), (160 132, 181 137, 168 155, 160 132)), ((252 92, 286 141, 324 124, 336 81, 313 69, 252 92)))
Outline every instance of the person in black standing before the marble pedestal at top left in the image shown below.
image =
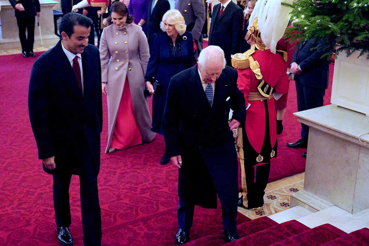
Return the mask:
POLYGON ((33 43, 35 40, 35 15, 40 17, 40 3, 38 0, 9 0, 15 9, 17 18, 19 39, 22 46, 23 57, 35 57, 33 53, 33 43), (25 30, 27 29, 27 37, 25 30))

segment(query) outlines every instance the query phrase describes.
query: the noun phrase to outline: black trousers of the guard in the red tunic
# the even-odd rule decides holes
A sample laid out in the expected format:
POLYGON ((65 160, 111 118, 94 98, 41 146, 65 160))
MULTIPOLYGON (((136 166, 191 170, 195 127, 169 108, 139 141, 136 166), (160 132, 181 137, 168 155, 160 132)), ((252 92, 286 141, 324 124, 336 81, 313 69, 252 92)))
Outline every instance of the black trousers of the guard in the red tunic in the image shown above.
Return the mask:
POLYGON ((245 168, 248 208, 262 207, 265 188, 268 184, 270 163, 245 168))

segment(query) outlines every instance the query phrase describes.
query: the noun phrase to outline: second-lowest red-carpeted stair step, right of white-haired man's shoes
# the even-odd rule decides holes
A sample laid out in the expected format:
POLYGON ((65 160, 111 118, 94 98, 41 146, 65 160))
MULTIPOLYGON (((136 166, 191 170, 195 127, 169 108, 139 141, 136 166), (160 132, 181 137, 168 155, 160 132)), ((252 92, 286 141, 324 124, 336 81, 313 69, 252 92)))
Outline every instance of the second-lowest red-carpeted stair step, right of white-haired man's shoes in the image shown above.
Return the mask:
POLYGON ((266 246, 290 238, 301 232, 310 230, 306 225, 296 220, 287 221, 269 227, 265 230, 245 236, 239 240, 227 243, 227 246, 266 246))

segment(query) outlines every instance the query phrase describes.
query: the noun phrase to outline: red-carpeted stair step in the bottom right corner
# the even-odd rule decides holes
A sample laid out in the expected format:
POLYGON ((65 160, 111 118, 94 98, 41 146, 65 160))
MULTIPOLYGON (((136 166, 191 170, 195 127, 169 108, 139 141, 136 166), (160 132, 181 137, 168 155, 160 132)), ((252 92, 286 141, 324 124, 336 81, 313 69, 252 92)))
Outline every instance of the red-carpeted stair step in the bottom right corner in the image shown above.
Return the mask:
POLYGON ((369 229, 362 228, 321 246, 369 246, 369 229))

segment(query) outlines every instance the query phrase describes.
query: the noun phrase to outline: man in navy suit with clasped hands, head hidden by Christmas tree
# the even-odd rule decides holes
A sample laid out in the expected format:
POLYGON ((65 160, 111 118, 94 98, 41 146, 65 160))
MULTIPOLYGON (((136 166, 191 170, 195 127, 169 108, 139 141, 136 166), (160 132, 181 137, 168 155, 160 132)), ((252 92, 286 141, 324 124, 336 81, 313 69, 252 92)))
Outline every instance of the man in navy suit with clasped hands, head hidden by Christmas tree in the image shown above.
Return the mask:
MULTIPOLYGON (((309 39, 297 46, 291 61, 290 72, 296 82, 297 109, 308 110, 323 106, 325 89, 328 88, 329 63, 321 58, 332 49, 334 42, 322 39, 309 39), (327 46, 328 44, 328 46, 327 46), (317 49, 311 50, 311 48, 317 49), (328 47, 328 48, 327 48, 328 47)), ((287 143, 292 148, 307 148, 309 127, 301 123, 301 139, 287 143)), ((302 154, 306 157, 306 151, 302 154)))

